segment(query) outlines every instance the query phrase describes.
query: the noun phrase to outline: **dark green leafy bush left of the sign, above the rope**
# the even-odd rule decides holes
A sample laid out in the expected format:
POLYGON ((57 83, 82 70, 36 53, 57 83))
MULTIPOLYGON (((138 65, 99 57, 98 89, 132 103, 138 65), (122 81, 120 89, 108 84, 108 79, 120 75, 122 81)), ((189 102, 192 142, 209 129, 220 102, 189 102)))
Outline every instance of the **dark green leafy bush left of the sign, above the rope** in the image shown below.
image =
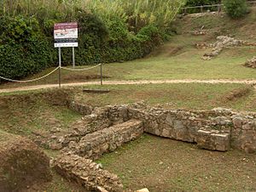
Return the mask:
POLYGON ((38 20, 5 16, 0 22, 0 76, 20 79, 54 62, 56 54, 38 20))

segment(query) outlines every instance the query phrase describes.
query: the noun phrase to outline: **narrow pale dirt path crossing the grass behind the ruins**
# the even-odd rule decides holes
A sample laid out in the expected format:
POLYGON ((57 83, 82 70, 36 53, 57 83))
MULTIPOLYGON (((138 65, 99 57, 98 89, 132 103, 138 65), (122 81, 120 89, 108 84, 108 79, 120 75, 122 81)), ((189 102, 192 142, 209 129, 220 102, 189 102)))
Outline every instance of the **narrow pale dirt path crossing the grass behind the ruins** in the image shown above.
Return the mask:
MULTIPOLYGON (((254 88, 256 85, 256 80, 142 80, 142 81, 106 81, 103 82, 104 85, 135 85, 135 84, 160 84, 160 83, 209 83, 209 84, 218 84, 218 83, 238 83, 238 84, 248 84, 253 85, 254 88)), ((66 87, 76 87, 76 86, 85 86, 85 85, 98 85, 100 82, 75 82, 75 83, 65 83, 62 84, 62 88, 66 87)), ((48 84, 48 85, 37 85, 37 86, 26 86, 18 88, 3 88, 0 89, 0 93, 11 93, 11 92, 20 92, 20 91, 31 91, 44 88, 58 88, 58 84, 48 84)))

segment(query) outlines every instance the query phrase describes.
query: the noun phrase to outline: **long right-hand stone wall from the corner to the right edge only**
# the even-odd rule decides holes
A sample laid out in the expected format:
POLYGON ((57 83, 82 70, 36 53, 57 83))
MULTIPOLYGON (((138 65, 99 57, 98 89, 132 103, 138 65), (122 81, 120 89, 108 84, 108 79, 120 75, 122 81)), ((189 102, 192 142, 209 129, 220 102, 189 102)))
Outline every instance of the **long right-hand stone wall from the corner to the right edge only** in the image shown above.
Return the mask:
POLYGON ((256 152, 256 118, 253 113, 231 110, 135 110, 132 118, 144 121, 145 132, 196 143, 207 150, 226 151, 230 146, 247 153, 256 152))

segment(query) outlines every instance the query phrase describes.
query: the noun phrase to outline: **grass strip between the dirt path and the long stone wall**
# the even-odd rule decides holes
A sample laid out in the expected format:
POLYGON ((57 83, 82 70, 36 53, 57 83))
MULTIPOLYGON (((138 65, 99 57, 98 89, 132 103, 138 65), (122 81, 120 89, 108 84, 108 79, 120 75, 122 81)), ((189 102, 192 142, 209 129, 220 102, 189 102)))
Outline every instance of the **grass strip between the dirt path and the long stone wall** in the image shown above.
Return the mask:
POLYGON ((145 100, 148 104, 164 104, 172 109, 211 110, 214 107, 234 110, 256 110, 256 92, 249 86, 240 84, 148 84, 89 86, 86 88, 107 88, 110 93, 76 94, 75 99, 84 104, 103 106, 108 104, 131 104, 145 100), (232 92, 250 88, 241 98, 227 100, 232 92), (168 103, 168 104, 166 104, 168 103))

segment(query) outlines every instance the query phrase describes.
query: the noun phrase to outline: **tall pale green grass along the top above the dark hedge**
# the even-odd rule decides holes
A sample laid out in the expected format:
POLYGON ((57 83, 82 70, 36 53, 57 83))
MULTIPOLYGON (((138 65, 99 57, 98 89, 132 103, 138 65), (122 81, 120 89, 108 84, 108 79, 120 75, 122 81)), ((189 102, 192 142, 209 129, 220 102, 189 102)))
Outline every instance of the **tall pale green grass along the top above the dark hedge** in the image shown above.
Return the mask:
POLYGON ((176 16, 185 0, 0 0, 0 14, 36 16, 47 19, 73 19, 76 8, 97 14, 102 20, 113 16, 135 27, 165 26, 176 16))

